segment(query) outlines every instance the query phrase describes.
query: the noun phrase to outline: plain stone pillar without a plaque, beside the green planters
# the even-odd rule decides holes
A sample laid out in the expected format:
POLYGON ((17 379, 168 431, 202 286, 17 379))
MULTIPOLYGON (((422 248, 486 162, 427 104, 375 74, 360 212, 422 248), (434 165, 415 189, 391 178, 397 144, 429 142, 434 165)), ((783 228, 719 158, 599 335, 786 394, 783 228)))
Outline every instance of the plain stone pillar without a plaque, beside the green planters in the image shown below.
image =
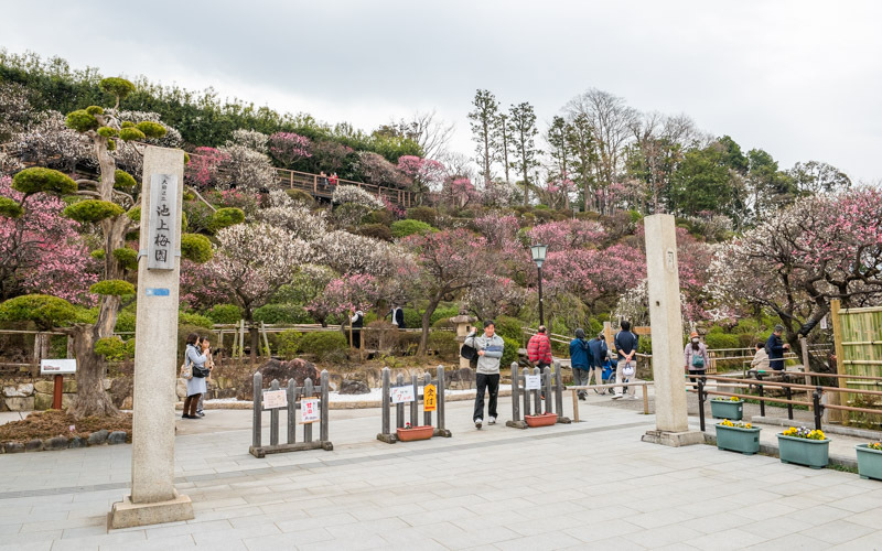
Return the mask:
POLYGON ((703 435, 698 431, 689 431, 686 411, 680 278, 674 216, 647 216, 644 226, 656 430, 647 432, 643 440, 671 446, 698 444, 703 442, 703 435))

